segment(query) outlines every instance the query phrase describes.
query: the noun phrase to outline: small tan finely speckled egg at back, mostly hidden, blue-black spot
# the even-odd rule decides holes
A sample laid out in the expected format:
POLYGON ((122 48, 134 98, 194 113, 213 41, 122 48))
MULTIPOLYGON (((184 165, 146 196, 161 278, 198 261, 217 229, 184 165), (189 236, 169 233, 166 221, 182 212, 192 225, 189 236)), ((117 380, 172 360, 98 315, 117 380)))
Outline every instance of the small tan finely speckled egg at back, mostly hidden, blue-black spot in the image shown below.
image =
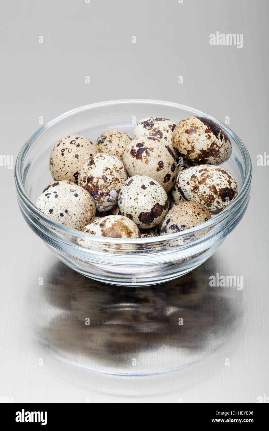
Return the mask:
POLYGON ((132 139, 125 132, 107 130, 97 138, 96 144, 100 153, 112 154, 122 161, 124 150, 130 141, 132 139))

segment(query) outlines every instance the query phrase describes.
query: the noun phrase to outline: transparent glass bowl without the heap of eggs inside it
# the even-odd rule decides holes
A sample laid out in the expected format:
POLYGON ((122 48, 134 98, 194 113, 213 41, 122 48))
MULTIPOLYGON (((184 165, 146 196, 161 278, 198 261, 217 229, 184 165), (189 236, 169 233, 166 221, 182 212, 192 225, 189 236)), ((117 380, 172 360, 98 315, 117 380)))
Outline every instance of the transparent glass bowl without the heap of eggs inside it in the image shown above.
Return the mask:
POLYGON ((19 207, 32 230, 70 268, 95 280, 119 285, 168 281, 192 271, 208 259, 243 217, 250 197, 251 175, 246 147, 222 122, 177 103, 138 99, 82 106, 48 122, 26 142, 15 169, 19 207), (222 166, 234 175, 239 189, 230 205, 203 225, 154 238, 104 238, 60 225, 35 206, 44 187, 52 181, 49 156, 61 137, 79 133, 95 140, 108 129, 120 129, 132 136, 133 125, 144 117, 164 117, 179 122, 192 115, 215 121, 228 134, 233 152, 222 166), (81 239, 89 248, 79 245, 81 239))

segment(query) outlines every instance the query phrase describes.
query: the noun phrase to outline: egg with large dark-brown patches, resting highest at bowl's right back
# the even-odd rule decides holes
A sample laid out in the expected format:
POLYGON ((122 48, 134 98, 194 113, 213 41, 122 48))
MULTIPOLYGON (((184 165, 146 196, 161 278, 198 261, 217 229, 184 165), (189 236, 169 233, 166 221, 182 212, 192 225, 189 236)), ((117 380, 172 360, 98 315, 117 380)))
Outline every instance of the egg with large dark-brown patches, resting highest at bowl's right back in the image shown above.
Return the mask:
POLYGON ((174 128, 172 144, 188 162, 220 165, 229 159, 231 142, 222 128, 205 117, 188 117, 174 128))

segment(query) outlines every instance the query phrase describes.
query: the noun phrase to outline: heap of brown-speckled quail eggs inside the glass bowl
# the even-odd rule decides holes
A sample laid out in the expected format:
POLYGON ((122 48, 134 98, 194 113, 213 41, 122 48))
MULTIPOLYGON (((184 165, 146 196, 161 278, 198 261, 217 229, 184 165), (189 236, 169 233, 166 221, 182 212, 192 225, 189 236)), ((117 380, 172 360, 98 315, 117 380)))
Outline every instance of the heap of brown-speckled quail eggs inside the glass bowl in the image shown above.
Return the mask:
POLYGON ((87 234, 134 239, 206 223, 237 196, 235 179, 219 166, 231 156, 231 142, 215 122, 149 117, 133 135, 107 130, 95 142, 80 134, 61 138, 50 155, 54 181, 36 206, 87 234))

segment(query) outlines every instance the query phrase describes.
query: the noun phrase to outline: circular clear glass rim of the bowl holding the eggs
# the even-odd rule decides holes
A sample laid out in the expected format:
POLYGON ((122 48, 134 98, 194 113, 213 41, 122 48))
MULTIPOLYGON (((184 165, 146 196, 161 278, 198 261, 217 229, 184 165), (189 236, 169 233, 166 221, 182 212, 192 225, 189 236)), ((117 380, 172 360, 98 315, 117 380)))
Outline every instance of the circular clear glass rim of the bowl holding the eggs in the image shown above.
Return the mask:
MULTIPOLYGON (((203 231, 205 228, 211 228, 214 227, 214 225, 217 225, 219 222, 222 222, 223 220, 227 219, 229 215, 236 209, 239 204, 241 203, 241 200, 244 200, 244 197, 246 196, 250 184, 251 184, 251 178, 252 178, 252 163, 250 159, 250 154, 247 150, 247 147, 244 145, 244 143, 241 141, 241 139, 235 134, 230 128, 227 127, 224 123, 219 121, 213 116, 210 116, 206 114, 203 111, 200 111, 198 109, 194 109, 190 106, 186 106, 180 103, 175 102, 168 102, 165 100, 152 100, 152 99, 118 99, 118 100, 107 100, 104 102, 98 102, 98 103, 90 103, 88 105, 79 106, 78 108, 71 109, 69 111, 64 112, 63 114, 60 114, 60 116, 55 117, 54 119, 48 121, 44 125, 42 125, 37 131, 35 131, 34 134, 26 141, 26 143, 23 145, 21 150, 18 153, 18 156, 16 158, 16 164, 15 164, 15 183, 16 183, 16 190, 19 195, 19 197, 22 199, 22 201, 26 204, 28 207, 28 210, 32 211, 32 213, 35 215, 37 219, 40 219, 42 222, 44 222, 46 225, 49 225, 50 228, 53 229, 53 231, 60 231, 60 233, 70 236, 76 239, 83 238, 88 240, 93 240, 96 242, 102 242, 107 244, 148 244, 148 243, 155 243, 155 242, 163 242, 168 240, 176 240, 180 239, 184 236, 189 236, 193 233, 197 233, 199 231, 203 231), (206 222, 202 223, 201 225, 195 226, 194 228, 187 229, 186 231, 180 231, 173 234, 168 235, 162 235, 158 237, 150 237, 150 238, 135 238, 135 239, 123 239, 123 238, 112 238, 112 237, 98 237, 92 234, 87 234, 81 231, 78 231, 73 228, 69 228, 65 225, 61 225, 60 223, 55 222, 53 219, 45 215, 43 212, 41 212, 40 209, 35 206, 35 204, 32 202, 30 197, 28 196, 25 187, 24 182, 22 178, 22 164, 25 158, 26 153, 28 152, 31 145, 35 142, 35 140, 38 138, 40 134, 42 134, 47 128, 51 127, 52 125, 56 124, 57 122, 60 122, 61 119, 64 119, 68 116, 72 116, 75 113, 82 112, 88 109, 94 109, 101 106, 109 106, 109 105, 115 105, 115 104, 123 104, 123 103, 145 103, 145 104, 156 104, 156 105, 166 105, 171 106, 177 109, 184 109, 187 111, 190 111, 192 115, 196 116, 204 116, 214 122, 216 122, 222 129, 228 133, 233 140, 236 142, 237 147, 239 147, 239 150, 241 151, 241 154, 244 159, 244 165, 245 165, 245 175, 244 179, 242 181, 242 187, 240 191, 238 191, 237 196, 234 198, 234 200, 231 201, 231 203, 222 210, 219 214, 215 215, 212 219, 207 220, 206 222)), ((200 238, 201 239, 201 238, 200 238)), ((196 241, 190 243, 190 245, 194 245, 196 241)), ((81 246, 80 246, 81 247, 81 246)), ((180 248, 183 248, 182 246, 180 248)), ((85 249, 87 250, 87 249, 85 249)), ((89 249, 89 252, 91 250, 89 249)))

